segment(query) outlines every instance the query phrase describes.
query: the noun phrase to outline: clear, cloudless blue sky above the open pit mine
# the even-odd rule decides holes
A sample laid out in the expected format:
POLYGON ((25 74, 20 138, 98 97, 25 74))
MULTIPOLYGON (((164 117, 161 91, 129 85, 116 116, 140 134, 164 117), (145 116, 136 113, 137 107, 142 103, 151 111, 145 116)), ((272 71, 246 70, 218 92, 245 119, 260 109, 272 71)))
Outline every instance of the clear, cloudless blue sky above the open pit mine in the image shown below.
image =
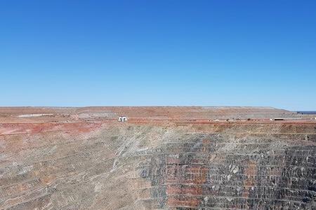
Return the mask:
POLYGON ((0 106, 316 110, 316 1, 0 1, 0 106))

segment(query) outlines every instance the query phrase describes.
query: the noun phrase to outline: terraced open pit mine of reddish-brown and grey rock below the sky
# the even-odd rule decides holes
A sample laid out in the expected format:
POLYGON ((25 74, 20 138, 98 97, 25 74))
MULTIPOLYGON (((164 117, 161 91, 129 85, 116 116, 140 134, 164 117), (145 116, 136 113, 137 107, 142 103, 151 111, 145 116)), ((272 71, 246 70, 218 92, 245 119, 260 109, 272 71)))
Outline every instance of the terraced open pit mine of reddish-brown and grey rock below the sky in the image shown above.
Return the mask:
POLYGON ((0 209, 316 209, 315 117, 1 107, 0 209))

